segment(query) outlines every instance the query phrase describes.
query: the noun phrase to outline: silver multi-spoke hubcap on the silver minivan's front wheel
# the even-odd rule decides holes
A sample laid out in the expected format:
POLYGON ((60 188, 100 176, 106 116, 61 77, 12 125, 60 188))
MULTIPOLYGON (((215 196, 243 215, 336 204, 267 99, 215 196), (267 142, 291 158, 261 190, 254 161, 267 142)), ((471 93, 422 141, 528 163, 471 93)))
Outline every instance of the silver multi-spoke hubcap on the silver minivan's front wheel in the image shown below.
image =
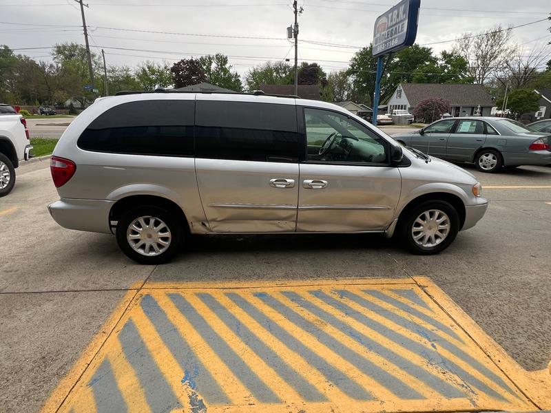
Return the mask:
POLYGON ((446 240, 450 232, 450 218, 439 209, 430 209, 417 217, 411 235, 417 245, 432 248, 446 240))

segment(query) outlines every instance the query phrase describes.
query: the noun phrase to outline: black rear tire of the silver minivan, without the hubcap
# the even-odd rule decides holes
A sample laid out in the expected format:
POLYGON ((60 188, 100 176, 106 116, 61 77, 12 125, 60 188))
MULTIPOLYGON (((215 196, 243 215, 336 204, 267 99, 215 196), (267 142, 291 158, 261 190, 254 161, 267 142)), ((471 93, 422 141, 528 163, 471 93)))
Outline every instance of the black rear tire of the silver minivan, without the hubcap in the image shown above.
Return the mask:
MULTIPOLYGON (((161 227, 160 229, 163 229, 163 227, 161 227)), ((138 234, 138 231, 134 231, 134 233, 138 234)), ((165 233, 167 232, 163 231, 161 235, 165 233)), ((118 246, 121 248, 123 253, 127 255, 127 257, 140 264, 156 265, 169 262, 169 260, 171 260, 172 257, 174 257, 176 253, 178 253, 178 249, 182 241, 182 222, 178 220, 174 213, 170 213, 166 209, 155 207, 154 205, 144 205, 141 207, 136 207, 123 213, 121 219, 118 220, 118 224, 116 226, 116 242, 118 246), (166 249, 164 251, 156 253, 156 255, 145 255, 145 253, 147 252, 145 251, 146 247, 144 247, 144 251, 142 253, 136 251, 136 249, 132 247, 130 241, 127 239, 127 231, 129 230, 129 226, 134 223, 134 221, 138 220, 138 218, 144 218, 144 222, 146 225, 151 225, 152 221, 154 222, 154 226, 160 224, 160 221, 164 222, 165 226, 168 229, 169 237, 159 237, 159 242, 148 242, 149 244, 155 244, 157 248, 159 248, 159 246, 160 248, 163 248, 160 242, 167 242, 167 240, 169 240, 169 244, 165 247, 166 249), (151 220, 147 221, 147 218, 151 220)), ((140 240, 136 240, 136 244, 138 244, 138 242, 140 242, 140 240)), ((153 246, 149 247, 149 249, 151 248, 153 248, 153 246)))

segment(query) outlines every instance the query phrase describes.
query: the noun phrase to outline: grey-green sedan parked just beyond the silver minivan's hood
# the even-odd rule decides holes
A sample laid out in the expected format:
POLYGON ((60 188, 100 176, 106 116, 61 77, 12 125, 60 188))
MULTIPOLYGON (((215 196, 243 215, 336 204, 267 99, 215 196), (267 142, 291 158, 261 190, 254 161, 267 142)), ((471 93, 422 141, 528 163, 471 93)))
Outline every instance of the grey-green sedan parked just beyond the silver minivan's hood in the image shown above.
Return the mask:
POLYGON ((431 156, 453 162, 474 162, 483 172, 497 172, 501 167, 551 164, 551 136, 507 118, 441 119, 419 131, 394 138, 431 156))

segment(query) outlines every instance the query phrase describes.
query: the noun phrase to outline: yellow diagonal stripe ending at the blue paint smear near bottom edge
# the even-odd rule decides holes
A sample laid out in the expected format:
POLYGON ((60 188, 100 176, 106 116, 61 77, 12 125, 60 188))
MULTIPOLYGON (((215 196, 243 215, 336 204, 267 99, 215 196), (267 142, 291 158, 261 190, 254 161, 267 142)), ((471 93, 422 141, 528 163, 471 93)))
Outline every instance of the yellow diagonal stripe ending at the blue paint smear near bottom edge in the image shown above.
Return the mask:
MULTIPOLYGON (((184 372, 178 361, 174 359, 174 356, 165 346, 163 340, 160 339, 158 332, 155 330, 152 322, 149 321, 147 315, 143 313, 142 308, 136 307, 132 313, 132 320, 136 323, 136 327, 140 331, 140 335, 149 350, 149 353, 152 354, 156 365, 159 370, 163 373, 167 379, 167 383, 171 385, 174 394, 178 397, 180 403, 184 406, 185 411, 191 410, 189 407, 189 394, 186 392, 187 386, 183 385, 182 378, 184 377, 184 372)), ((122 349, 121 349, 122 351, 122 349)), ((130 392, 130 396, 132 396, 130 392)), ((138 410, 136 413, 140 412, 140 405, 147 405, 143 402, 137 403, 138 410)))

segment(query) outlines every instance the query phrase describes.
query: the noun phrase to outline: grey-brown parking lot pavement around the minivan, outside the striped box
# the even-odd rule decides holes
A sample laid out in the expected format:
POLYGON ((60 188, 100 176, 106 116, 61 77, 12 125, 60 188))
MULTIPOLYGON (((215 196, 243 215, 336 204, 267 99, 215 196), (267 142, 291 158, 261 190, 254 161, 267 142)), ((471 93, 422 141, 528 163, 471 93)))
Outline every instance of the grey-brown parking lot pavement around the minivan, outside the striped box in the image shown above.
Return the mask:
MULTIPOLYGON (((372 235, 195 237, 174 262, 138 266, 114 237, 60 228, 48 162, 18 170, 0 200, 0 405, 35 412, 123 297, 155 283, 342 282, 428 277, 523 369, 551 360, 551 168, 475 173, 485 218, 441 255, 372 235)), ((96 336, 98 334, 98 336, 96 336)))

